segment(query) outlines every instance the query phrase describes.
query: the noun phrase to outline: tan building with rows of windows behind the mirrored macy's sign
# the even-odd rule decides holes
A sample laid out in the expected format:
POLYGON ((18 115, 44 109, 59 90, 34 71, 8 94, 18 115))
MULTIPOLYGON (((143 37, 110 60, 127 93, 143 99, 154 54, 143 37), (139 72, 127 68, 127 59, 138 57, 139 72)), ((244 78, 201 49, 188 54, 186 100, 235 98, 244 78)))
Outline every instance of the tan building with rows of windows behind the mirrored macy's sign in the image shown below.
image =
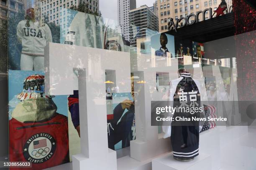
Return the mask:
MULTIPOLYGON (((232 0, 225 0, 228 5, 232 5, 232 0)), ((200 10, 205 10, 211 7, 216 10, 220 5, 221 0, 158 0, 158 18, 159 18, 159 31, 167 31, 167 25, 170 18, 177 20, 181 17, 186 17, 189 14, 196 14, 200 10)), ((205 19, 209 18, 209 14, 206 13, 205 19)), ((191 18, 194 20, 193 18, 191 18)), ((202 16, 200 16, 202 20, 202 16)), ((175 22, 175 21, 174 21, 175 22)))

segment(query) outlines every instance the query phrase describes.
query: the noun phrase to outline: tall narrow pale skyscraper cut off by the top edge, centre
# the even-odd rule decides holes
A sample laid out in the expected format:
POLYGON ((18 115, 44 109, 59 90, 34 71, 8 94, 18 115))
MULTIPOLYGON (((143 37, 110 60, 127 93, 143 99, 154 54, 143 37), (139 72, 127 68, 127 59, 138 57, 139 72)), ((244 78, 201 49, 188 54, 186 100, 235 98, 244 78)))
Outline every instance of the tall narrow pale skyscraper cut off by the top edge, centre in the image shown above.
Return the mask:
POLYGON ((129 41, 129 11, 136 8, 136 0, 118 0, 118 26, 129 41))

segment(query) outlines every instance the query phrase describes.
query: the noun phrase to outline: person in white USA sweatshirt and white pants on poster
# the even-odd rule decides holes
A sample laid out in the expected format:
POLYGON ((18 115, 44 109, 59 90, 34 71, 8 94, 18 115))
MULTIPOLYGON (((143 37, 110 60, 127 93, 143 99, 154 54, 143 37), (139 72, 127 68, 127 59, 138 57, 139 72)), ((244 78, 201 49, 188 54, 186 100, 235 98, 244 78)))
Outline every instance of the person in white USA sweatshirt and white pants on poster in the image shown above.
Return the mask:
POLYGON ((44 47, 52 42, 51 30, 47 24, 27 18, 17 26, 17 38, 22 44, 20 70, 44 70, 44 47))

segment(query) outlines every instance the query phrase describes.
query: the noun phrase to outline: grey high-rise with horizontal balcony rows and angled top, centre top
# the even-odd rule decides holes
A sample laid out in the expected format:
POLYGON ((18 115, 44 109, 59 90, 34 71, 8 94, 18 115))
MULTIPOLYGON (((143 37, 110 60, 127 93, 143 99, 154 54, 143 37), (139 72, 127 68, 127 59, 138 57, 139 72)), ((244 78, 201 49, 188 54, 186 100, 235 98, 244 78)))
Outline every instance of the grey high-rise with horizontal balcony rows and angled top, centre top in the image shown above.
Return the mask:
POLYGON ((146 30, 158 31, 158 18, 148 8, 147 5, 143 5, 134 10, 130 10, 130 44, 136 47, 136 39, 140 37, 146 37, 146 30))

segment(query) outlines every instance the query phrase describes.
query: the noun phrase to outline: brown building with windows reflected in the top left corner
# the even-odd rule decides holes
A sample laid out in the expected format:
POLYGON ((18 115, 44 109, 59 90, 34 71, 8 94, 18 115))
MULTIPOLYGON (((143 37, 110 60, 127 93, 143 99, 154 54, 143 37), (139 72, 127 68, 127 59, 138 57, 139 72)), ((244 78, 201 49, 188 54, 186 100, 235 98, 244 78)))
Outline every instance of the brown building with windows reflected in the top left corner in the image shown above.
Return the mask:
POLYGON ((7 17, 13 17, 18 11, 24 10, 24 2, 22 0, 1 0, 0 3, 0 23, 1 20, 6 20, 7 17))

